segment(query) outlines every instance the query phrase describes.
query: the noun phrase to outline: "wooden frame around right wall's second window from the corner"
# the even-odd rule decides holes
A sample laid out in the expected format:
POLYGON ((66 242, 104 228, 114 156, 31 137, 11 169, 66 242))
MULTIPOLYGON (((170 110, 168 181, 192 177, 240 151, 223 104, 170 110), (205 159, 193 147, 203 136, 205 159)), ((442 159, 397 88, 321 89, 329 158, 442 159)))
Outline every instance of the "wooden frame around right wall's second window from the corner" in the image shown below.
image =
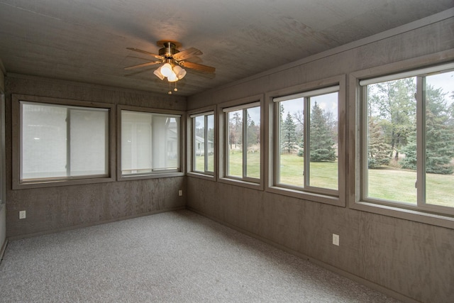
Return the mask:
MULTIPOLYGON (((263 106, 263 94, 258 94, 250 97, 245 97, 242 99, 236 99, 232 101, 227 101, 222 104, 218 104, 218 151, 219 151, 219 160, 218 160, 218 181, 227 183, 227 184, 236 184, 242 187, 254 188, 254 189, 264 189, 264 161, 265 161, 265 145, 264 145, 264 106, 263 106), (260 106, 260 177, 233 177, 226 175, 228 171, 228 119, 226 115, 228 109, 248 109, 256 106, 250 106, 250 104, 258 104, 260 106)), ((243 136, 244 136, 244 125, 243 125, 243 136)), ((244 148, 244 146, 243 146, 244 148)), ((245 155, 243 155, 245 157, 245 155)), ((244 168, 243 168, 244 174, 244 168)))

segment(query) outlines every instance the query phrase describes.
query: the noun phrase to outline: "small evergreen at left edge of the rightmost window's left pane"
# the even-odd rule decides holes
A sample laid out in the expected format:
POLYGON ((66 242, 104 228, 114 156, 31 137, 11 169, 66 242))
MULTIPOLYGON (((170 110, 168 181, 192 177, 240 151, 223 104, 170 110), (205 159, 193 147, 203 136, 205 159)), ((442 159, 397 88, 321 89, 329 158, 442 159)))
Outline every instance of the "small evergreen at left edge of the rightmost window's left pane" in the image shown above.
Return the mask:
POLYGON ((367 141, 367 167, 374 169, 388 165, 391 159, 391 145, 384 141, 383 131, 374 117, 369 117, 369 138, 367 141))

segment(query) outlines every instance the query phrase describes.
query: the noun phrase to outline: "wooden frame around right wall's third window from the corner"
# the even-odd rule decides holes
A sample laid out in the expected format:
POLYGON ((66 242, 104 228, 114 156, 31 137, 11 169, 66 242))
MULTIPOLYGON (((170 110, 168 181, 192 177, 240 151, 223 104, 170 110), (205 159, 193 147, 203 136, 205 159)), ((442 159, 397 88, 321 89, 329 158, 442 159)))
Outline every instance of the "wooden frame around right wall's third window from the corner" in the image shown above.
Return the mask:
MULTIPOLYGON (((345 122, 346 120, 346 99, 345 99, 345 75, 338 75, 319 81, 308 82, 299 84, 294 87, 287 87, 285 89, 278 89, 276 91, 267 92, 265 99, 267 100, 267 117, 270 128, 270 136, 268 137, 267 145, 269 155, 269 168, 268 168, 268 182, 266 186, 267 192, 275 194, 284 194, 289 197, 296 197, 299 199, 306 199, 309 201, 331 204, 336 206, 345 207, 345 176, 346 176, 346 153, 345 153, 345 122), (306 94, 306 92, 316 92, 320 89, 338 86, 338 189, 323 189, 319 187, 294 187, 288 184, 277 184, 279 176, 278 155, 279 155, 279 141, 277 134, 279 132, 279 110, 277 109, 277 98, 291 97, 297 94, 306 94)), ((307 109, 304 109, 305 112, 307 109)), ((306 118, 306 116, 305 116, 306 118)), ((305 121, 305 124, 309 121, 305 121)), ((307 136, 307 128, 304 130, 307 136)), ((305 139, 306 140, 306 139, 305 139)), ((309 140, 309 138, 307 139, 309 140)), ((305 151, 305 158, 308 152, 305 151)), ((306 165, 306 164, 305 164, 306 165)), ((309 164, 307 164, 309 165, 309 164)), ((305 176, 306 179, 307 176, 305 176)))

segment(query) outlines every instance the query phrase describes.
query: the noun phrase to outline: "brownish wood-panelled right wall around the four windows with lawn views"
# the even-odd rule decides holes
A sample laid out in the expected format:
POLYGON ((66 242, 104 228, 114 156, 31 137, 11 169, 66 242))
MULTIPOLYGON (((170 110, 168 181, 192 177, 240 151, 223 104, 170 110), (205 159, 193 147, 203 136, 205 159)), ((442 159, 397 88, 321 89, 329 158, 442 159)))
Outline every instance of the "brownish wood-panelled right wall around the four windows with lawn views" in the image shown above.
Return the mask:
MULTIPOLYGON (((406 26, 198 94, 188 99, 188 109, 337 75, 349 79, 357 70, 453 50, 452 16, 451 10, 434 23, 406 26)), ((347 102, 351 113, 355 96, 347 93, 347 102)), ((354 197, 355 117, 345 120, 350 155, 345 178, 354 197)), ((454 302, 454 229, 358 211, 350 201, 346 207, 332 206, 191 176, 187 188, 189 209, 251 236, 408 302, 454 302), (331 244, 332 233, 340 235, 340 246, 331 244)))

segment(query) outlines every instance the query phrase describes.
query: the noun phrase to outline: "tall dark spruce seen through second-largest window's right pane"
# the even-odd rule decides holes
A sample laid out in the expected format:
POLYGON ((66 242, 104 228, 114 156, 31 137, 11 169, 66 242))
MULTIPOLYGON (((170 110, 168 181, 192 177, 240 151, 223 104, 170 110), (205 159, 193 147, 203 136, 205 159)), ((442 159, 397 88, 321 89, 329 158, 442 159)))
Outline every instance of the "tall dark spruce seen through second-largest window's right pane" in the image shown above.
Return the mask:
POLYGON ((335 161, 336 142, 332 128, 323 109, 317 102, 311 109, 309 126, 309 157, 311 162, 335 161))

